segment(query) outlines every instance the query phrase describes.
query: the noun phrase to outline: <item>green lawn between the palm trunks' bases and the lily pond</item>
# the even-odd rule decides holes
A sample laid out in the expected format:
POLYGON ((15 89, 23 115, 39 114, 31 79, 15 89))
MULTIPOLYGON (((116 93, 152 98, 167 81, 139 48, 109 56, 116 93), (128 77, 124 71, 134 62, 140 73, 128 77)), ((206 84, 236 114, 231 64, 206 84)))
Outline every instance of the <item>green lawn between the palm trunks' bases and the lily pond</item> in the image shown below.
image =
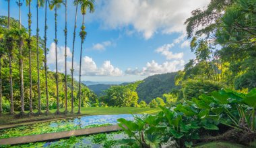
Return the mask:
MULTIPOLYGON (((0 117, 0 127, 9 127, 10 125, 28 125, 32 123, 38 123, 43 121, 51 121, 51 120, 57 120, 57 119, 67 119, 69 117, 79 117, 84 115, 115 115, 115 114, 156 114, 160 111, 160 108, 135 108, 135 107, 82 107, 81 108, 81 114, 77 115, 77 109, 74 109, 73 114, 67 113, 67 115, 64 115, 61 113, 61 115, 55 115, 56 110, 50 110, 49 115, 32 115, 32 116, 24 116, 22 118, 17 118, 15 116, 8 115, 7 113, 4 113, 0 117)), ((61 112, 64 112, 64 108, 60 109, 61 112)), ((71 110, 69 108, 69 110, 71 110)), ((34 113, 37 111, 35 110, 34 113)), ((18 114, 18 113, 17 113, 18 114)))

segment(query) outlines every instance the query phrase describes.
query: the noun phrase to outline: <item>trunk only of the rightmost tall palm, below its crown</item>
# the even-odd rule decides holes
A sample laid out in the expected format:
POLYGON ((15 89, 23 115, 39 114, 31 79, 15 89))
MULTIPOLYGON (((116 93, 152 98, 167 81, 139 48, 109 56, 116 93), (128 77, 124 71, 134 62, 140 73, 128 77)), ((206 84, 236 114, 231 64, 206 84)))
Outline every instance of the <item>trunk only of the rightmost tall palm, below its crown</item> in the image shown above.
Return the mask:
POLYGON ((80 63, 79 63, 79 106, 78 106, 78 112, 77 114, 81 114, 81 63, 82 63, 82 49, 84 44, 84 36, 82 33, 84 33, 84 14, 83 14, 83 23, 82 23, 82 32, 81 32, 81 50, 80 50, 80 63))

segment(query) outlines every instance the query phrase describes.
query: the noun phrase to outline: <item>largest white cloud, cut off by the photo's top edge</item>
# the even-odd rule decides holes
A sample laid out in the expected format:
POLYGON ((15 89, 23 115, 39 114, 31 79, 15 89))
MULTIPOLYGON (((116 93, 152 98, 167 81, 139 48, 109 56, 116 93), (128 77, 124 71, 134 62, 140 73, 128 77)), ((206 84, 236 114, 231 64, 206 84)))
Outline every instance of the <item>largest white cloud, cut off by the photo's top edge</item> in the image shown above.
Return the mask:
POLYGON ((98 0, 95 19, 101 19, 103 27, 133 29, 152 38, 154 33, 182 33, 185 19, 191 11, 205 7, 210 0, 98 0))

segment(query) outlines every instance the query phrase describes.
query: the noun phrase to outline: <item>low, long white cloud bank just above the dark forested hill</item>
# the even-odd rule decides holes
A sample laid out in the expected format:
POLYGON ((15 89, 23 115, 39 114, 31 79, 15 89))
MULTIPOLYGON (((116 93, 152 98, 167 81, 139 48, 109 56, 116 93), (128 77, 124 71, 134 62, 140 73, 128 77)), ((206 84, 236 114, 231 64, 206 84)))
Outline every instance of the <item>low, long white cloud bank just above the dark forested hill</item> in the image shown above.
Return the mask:
POLYGON ((154 60, 148 62, 145 67, 141 70, 135 68, 132 70, 128 68, 125 70, 125 74, 128 75, 139 75, 139 76, 152 76, 154 74, 164 74, 168 72, 177 72, 182 70, 185 62, 183 60, 174 60, 172 62, 164 62, 163 64, 158 64, 154 60))

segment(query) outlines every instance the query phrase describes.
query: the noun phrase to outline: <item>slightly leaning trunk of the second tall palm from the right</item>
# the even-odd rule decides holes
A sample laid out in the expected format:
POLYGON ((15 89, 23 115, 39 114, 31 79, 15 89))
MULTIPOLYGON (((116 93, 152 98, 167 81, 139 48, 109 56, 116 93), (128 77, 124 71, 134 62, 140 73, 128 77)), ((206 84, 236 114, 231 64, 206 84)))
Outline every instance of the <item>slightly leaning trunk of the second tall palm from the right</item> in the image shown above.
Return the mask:
POLYGON ((72 50, 72 68, 71 68, 71 113, 73 113, 73 101, 74 101, 74 96, 73 96, 73 59, 74 59, 74 51, 75 51, 75 29, 76 29, 76 21, 77 21, 77 8, 78 8, 78 3, 76 4, 75 8, 75 27, 74 27, 74 32, 73 32, 73 50, 72 50))

